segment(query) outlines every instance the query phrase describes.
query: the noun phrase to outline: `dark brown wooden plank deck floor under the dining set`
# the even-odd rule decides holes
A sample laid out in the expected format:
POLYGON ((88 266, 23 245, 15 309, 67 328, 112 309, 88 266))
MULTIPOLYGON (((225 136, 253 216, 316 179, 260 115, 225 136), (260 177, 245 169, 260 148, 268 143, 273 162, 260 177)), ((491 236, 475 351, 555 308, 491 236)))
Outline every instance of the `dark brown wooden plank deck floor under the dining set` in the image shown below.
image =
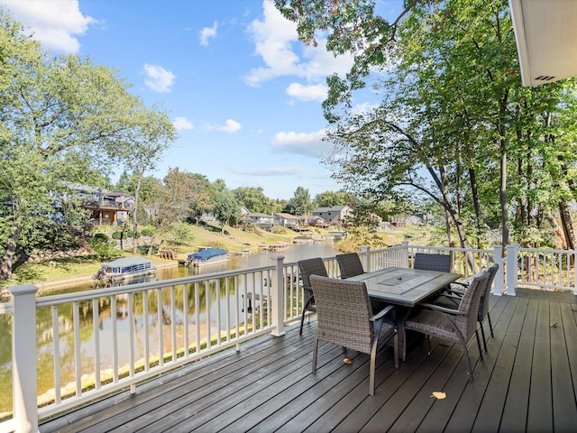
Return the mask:
POLYGON ((342 348, 324 344, 311 373, 311 320, 302 336, 294 326, 286 336, 261 337, 240 353, 143 383, 133 395, 46 421, 40 431, 575 431, 576 310, 571 294, 492 297, 495 337, 482 361, 471 345, 474 382, 460 345, 416 340, 398 370, 391 349, 381 352, 374 396, 367 355, 349 352, 353 364, 344 364, 342 348))

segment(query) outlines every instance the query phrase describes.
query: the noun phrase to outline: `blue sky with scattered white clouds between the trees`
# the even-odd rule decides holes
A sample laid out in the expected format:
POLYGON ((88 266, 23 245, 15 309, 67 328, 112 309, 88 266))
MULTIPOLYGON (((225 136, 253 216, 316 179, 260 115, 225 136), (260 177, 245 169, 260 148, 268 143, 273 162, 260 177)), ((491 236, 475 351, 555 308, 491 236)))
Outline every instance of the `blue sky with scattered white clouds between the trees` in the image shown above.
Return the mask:
MULTIPOLYGON (((381 2, 392 14, 399 0, 381 2)), ((344 74, 324 43, 306 47, 272 0, 0 0, 55 53, 119 70, 146 106, 158 103, 179 131, 158 170, 261 187, 269 198, 338 190, 319 159, 325 77, 344 74)), ((396 9, 395 9, 396 8, 396 9)), ((362 104, 362 101, 357 101, 362 104)), ((116 172, 116 176, 120 170, 116 172)), ((115 180, 115 179, 113 179, 115 180)))

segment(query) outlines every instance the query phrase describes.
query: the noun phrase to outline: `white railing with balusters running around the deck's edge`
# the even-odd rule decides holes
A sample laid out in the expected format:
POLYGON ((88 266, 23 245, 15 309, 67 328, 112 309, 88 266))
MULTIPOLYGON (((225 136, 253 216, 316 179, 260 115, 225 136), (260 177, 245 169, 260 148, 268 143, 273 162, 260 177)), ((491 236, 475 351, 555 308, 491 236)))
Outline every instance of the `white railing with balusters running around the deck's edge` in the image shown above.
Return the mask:
MULTIPOLYGON (((515 295, 517 286, 577 294, 577 252, 517 245, 506 251, 501 258, 500 246, 464 250, 404 243, 363 247, 359 254, 365 270, 376 271, 410 267, 417 252, 448 253, 453 272, 464 279, 497 260, 494 294, 515 295)), ((137 382, 226 347, 240 350, 255 336, 283 335, 285 325, 300 319, 302 286, 298 263, 273 258, 273 264, 259 268, 39 298, 35 286, 11 288, 13 301, 0 304, 0 314, 12 315, 14 419, 0 423, 0 430, 37 431, 38 419, 120 389, 134 392, 137 382), (41 316, 48 316, 50 325, 37 329, 41 316), (37 347, 39 336, 49 344, 37 347), (104 352, 112 353, 111 359, 101 359, 104 352), (38 371, 47 365, 53 388, 38 396, 38 371)), ((335 258, 324 261, 328 274, 338 277, 335 258)))

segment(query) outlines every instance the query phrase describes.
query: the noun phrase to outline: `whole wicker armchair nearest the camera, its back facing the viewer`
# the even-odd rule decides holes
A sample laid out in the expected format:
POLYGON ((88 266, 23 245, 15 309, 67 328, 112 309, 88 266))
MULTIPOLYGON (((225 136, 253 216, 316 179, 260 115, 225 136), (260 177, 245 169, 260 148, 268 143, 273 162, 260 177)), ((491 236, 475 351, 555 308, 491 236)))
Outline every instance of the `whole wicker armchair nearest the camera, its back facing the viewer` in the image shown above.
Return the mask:
MULTIPOLYGON (((375 360, 377 350, 391 339, 395 368, 398 368, 397 329, 385 322, 395 308, 388 306, 372 314, 371 301, 364 282, 310 277, 316 300, 316 336, 313 345, 313 373, 316 373, 318 340, 371 355, 369 394, 375 393, 375 360)), ((394 320, 394 317, 393 317, 394 320)))

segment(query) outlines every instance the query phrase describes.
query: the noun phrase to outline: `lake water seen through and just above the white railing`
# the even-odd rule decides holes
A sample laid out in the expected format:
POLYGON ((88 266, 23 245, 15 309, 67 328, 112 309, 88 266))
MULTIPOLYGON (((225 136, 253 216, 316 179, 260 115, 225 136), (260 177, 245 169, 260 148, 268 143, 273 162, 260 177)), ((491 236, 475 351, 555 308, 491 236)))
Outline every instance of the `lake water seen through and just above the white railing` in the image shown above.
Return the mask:
MULTIPOLYGON (((208 264, 201 267, 171 267, 160 268, 156 276, 148 276, 163 281, 174 278, 186 277, 188 275, 201 275, 212 272, 224 272, 228 270, 252 268, 266 266, 273 263, 273 255, 285 256, 285 262, 296 262, 310 257, 330 257, 338 253, 332 243, 318 244, 294 244, 288 249, 280 252, 264 252, 252 255, 233 255, 230 260, 221 263, 208 264)), ((145 278, 145 277, 141 277, 145 278)), ((150 281, 150 280, 147 280, 150 281)), ((143 282, 143 281, 138 281, 143 282)), ((230 282, 230 281, 229 281, 230 282)), ((248 281, 246 281, 248 284, 248 281)), ((243 284, 242 279, 239 284, 243 284)), ((216 281, 212 281, 208 287, 204 284, 197 286, 188 284, 186 287, 179 286, 176 290, 176 310, 170 314, 170 288, 165 288, 157 295, 156 290, 151 290, 150 296, 147 293, 134 295, 116 296, 114 299, 105 297, 96 300, 98 317, 96 328, 99 336, 99 367, 102 371, 110 369, 116 363, 124 365, 129 358, 129 344, 131 325, 134 328, 134 353, 137 357, 144 355, 143 345, 145 342, 151 345, 151 352, 161 347, 161 352, 167 353, 172 350, 171 327, 178 326, 177 347, 184 345, 183 322, 186 317, 192 318, 189 322, 188 341, 194 342, 196 335, 195 313, 197 313, 198 323, 205 324, 206 318, 210 318, 210 327, 215 327, 215 321, 221 322, 224 326, 228 319, 225 311, 230 311, 230 322, 234 323, 237 309, 241 311, 243 306, 236 306, 233 297, 226 297, 226 290, 233 294, 234 283, 229 283, 225 287, 225 281, 220 280, 216 287, 216 281), (132 296, 129 303, 128 297, 132 296), (223 299, 229 299, 226 306, 223 299), (133 308, 134 323, 128 323, 129 305, 133 308), (186 309, 186 311, 185 311, 186 309), (114 336, 118 345, 114 347, 114 336)), ((95 288, 94 282, 79 285, 78 287, 50 290, 46 294, 60 294, 73 291, 92 290, 95 288)), ((241 289, 240 287, 238 288, 241 289)), ((78 305, 78 318, 80 323, 80 364, 82 374, 94 371, 96 364, 95 353, 95 318, 93 311, 95 305, 92 301, 80 302, 78 305)), ((60 383, 63 386, 72 382, 75 377, 74 359, 74 320, 73 305, 67 304, 58 309, 58 332, 60 351, 60 383)), ((54 336, 52 329, 52 312, 50 308, 37 310, 37 356, 38 356, 38 392, 39 395, 54 388, 54 336)), ((240 318, 239 318, 240 321, 240 318)), ((204 332, 202 329, 201 332, 204 332)), ((11 377, 11 357, 12 357, 12 330, 9 315, 0 315, 0 413, 12 410, 12 377, 11 377)))

